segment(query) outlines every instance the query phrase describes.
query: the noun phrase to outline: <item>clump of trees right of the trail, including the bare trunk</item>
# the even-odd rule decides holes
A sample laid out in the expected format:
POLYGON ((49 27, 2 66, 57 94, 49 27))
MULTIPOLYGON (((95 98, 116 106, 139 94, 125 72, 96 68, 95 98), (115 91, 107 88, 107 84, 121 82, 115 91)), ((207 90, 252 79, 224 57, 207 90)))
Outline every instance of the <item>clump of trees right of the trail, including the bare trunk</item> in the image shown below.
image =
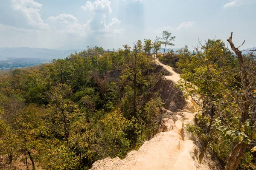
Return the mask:
POLYGON ((209 145, 227 162, 226 170, 236 170, 243 156, 250 159, 250 153, 245 154, 246 148, 256 145, 253 137, 256 83, 251 77, 255 75, 256 64, 253 55, 242 56, 235 48, 232 35, 228 42, 237 57, 221 40, 208 40, 201 44, 201 49, 195 48, 195 55, 181 52, 178 66, 182 68, 185 80, 182 85, 188 94, 192 99, 199 96, 203 100, 202 105, 198 103, 202 109, 202 115, 197 116, 198 127, 189 127, 204 141, 200 159, 209 145), (218 150, 224 153, 231 150, 230 156, 218 150))

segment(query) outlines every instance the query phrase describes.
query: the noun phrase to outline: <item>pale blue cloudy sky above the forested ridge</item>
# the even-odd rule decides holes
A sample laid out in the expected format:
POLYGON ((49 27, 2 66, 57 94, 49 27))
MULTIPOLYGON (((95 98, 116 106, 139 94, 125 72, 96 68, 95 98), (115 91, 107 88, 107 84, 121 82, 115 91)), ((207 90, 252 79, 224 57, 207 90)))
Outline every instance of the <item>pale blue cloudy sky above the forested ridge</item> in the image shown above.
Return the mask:
POLYGON ((198 40, 256 45, 256 0, 0 0, 0 47, 122 48, 137 40, 176 36, 190 49, 198 40))

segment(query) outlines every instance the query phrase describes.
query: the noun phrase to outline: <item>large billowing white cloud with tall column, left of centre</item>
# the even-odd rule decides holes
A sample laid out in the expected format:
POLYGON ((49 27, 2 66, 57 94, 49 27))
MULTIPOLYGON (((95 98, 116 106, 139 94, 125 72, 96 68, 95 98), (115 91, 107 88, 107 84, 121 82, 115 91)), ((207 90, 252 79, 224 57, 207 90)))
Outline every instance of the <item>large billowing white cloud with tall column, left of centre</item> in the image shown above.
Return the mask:
POLYGON ((116 17, 110 23, 106 22, 106 17, 112 12, 109 0, 96 0, 94 3, 87 1, 81 8, 90 10, 92 17, 87 23, 79 23, 79 20, 71 14, 59 14, 48 17, 47 21, 51 30, 59 35, 73 34, 74 36, 102 37, 121 34, 124 29, 118 28, 121 23, 116 17), (108 34, 108 35, 107 35, 108 34))

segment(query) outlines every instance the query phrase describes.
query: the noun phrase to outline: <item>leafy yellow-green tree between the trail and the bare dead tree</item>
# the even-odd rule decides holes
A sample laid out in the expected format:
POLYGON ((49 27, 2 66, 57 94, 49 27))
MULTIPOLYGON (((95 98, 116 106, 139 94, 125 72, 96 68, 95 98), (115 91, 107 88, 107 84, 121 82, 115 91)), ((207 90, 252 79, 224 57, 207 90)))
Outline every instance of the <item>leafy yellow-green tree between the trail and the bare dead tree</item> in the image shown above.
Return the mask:
MULTIPOLYGON (((181 77, 184 80, 180 81, 183 88, 188 91, 192 99, 199 97, 203 102, 201 106, 202 116, 197 115, 197 123, 199 128, 194 129, 203 141, 203 148, 199 154, 199 160, 202 161, 207 145, 212 139, 212 123, 215 116, 216 105, 218 105, 219 98, 223 98, 221 93, 224 93, 225 87, 215 79, 209 72, 215 72, 216 75, 220 74, 220 63, 216 63, 216 59, 221 58, 223 55, 224 43, 221 40, 208 40, 205 45, 201 47, 204 52, 199 52, 197 55, 192 55, 188 48, 185 47, 179 51, 178 67, 182 69, 183 74, 181 77), (202 133, 202 132, 205 133, 202 133)), ((229 51, 224 51, 225 55, 231 55, 229 51)), ((223 63, 224 64, 224 63, 223 63)), ((224 66, 224 65, 223 65, 224 66)), ((191 125, 188 125, 190 128, 191 125)))

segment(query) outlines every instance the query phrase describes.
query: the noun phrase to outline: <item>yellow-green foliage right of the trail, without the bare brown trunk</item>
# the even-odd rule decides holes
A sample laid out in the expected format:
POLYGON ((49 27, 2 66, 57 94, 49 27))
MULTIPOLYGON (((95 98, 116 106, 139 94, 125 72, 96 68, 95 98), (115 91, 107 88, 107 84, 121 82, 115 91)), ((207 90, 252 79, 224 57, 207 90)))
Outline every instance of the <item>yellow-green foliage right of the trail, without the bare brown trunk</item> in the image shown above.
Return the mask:
MULTIPOLYGON (((180 85, 186 90, 186 95, 192 96, 199 105, 199 113, 195 117, 196 126, 186 127, 203 141, 204 147, 215 151, 223 164, 226 164, 233 146, 238 143, 247 146, 250 142, 255 142, 253 135, 256 133, 252 126, 255 125, 255 120, 250 117, 245 121, 241 119, 244 111, 252 114, 254 112, 253 103, 247 102, 244 105, 245 91, 253 89, 243 85, 244 77, 239 61, 225 48, 224 42, 208 40, 195 50, 197 53, 191 54, 187 47, 181 49, 177 62, 178 68, 183 72, 180 85)), ((250 56, 244 56, 244 59, 248 64, 246 72, 250 77, 255 73, 255 59, 250 56)), ((250 83, 255 85, 254 80, 250 83)), ((250 99, 253 98, 250 96, 250 99)), ((251 160, 251 153, 246 152, 239 169, 253 168, 251 160)))

